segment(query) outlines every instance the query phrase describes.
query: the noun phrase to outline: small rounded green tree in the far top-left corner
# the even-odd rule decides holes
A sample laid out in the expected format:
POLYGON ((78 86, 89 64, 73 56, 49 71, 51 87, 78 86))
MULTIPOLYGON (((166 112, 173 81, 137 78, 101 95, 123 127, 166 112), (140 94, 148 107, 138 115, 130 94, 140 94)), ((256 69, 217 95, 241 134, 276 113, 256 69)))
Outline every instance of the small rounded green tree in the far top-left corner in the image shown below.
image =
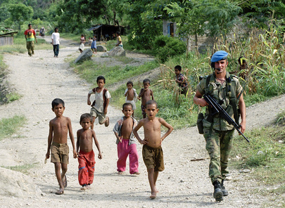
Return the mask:
POLYGON ((10 4, 8 12, 11 14, 11 20, 18 23, 18 29, 20 25, 27 20, 30 20, 34 15, 34 11, 31 6, 25 6, 24 4, 10 4))

